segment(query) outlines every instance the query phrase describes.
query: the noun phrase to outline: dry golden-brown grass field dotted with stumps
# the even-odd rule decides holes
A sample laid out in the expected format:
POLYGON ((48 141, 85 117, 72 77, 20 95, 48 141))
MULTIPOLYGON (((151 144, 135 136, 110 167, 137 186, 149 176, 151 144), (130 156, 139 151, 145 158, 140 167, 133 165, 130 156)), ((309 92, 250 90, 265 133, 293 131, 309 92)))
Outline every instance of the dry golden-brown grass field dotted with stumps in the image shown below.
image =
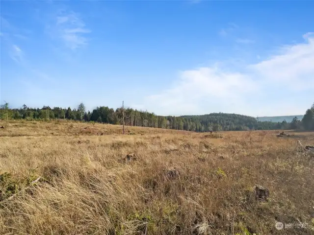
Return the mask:
POLYGON ((0 235, 314 234, 314 133, 2 124, 0 235))

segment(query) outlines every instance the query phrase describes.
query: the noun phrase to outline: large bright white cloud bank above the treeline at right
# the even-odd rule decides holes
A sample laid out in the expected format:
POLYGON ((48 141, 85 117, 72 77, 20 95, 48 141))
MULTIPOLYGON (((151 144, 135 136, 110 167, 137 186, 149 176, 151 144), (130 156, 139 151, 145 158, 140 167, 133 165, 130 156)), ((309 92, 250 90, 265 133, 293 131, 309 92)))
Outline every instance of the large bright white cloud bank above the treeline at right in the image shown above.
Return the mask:
POLYGON ((160 115, 302 114, 314 89, 314 37, 304 38, 305 43, 282 47, 269 59, 233 71, 221 63, 182 71, 169 89, 145 97, 138 107, 160 115))

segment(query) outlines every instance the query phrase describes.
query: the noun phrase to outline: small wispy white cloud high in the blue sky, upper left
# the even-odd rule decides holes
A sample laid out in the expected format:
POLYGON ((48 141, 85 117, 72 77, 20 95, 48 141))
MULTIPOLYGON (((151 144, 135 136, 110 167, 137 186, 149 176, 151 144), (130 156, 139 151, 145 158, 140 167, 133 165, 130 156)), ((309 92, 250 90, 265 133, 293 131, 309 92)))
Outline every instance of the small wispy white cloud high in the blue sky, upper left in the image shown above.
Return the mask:
POLYGON ((55 19, 54 31, 66 47, 76 50, 88 44, 87 34, 91 32, 80 19, 78 13, 69 12, 55 19))

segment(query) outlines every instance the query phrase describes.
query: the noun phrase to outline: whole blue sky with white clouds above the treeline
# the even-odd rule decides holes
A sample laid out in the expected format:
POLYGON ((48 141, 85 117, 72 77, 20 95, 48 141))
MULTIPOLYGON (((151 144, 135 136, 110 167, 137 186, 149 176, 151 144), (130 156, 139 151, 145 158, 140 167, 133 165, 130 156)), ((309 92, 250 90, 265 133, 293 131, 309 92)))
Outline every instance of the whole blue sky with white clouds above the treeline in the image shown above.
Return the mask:
POLYGON ((0 103, 302 115, 314 1, 0 2, 0 103))

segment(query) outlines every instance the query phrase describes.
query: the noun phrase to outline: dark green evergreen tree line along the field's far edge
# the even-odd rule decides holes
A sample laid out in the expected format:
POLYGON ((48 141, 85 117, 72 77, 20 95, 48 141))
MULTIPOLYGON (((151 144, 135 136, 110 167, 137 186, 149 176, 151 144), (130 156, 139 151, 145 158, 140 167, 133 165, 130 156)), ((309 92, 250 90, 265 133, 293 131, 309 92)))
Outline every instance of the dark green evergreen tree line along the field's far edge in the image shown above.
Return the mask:
POLYGON ((304 129, 314 130, 314 104, 306 111, 302 120, 293 118, 291 122, 259 121, 254 117, 211 113, 199 116, 158 116, 147 111, 134 110, 120 107, 114 110, 107 106, 100 106, 92 112, 86 111, 83 103, 78 108, 71 109, 44 106, 43 108, 30 108, 25 104, 20 109, 11 109, 5 103, 0 108, 0 118, 26 119, 26 120, 51 120, 69 119, 85 122, 100 122, 109 124, 122 124, 130 126, 156 127, 176 130, 208 132, 208 131, 241 131, 241 130, 276 130, 276 129, 304 129), (124 115, 123 115, 124 113, 124 115))

